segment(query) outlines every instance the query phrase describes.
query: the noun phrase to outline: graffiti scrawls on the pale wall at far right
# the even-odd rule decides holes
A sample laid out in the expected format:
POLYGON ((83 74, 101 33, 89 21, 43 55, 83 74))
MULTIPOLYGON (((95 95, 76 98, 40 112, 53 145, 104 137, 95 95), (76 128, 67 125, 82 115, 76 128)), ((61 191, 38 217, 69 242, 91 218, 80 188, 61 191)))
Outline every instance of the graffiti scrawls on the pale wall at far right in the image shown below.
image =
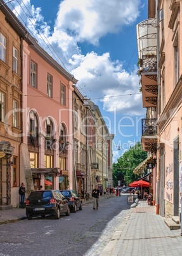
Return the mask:
POLYGON ((172 203, 174 189, 172 164, 166 167, 166 200, 172 203))

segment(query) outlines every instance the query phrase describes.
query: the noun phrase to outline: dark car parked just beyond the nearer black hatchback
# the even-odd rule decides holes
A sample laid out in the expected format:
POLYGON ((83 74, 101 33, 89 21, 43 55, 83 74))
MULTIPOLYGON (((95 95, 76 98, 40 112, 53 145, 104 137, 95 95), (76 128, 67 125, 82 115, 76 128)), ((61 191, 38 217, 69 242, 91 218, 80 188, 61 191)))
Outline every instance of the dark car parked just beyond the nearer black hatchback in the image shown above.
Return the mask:
POLYGON ((77 208, 82 210, 82 199, 74 190, 60 190, 63 196, 65 196, 69 201, 70 210, 75 213, 77 208))

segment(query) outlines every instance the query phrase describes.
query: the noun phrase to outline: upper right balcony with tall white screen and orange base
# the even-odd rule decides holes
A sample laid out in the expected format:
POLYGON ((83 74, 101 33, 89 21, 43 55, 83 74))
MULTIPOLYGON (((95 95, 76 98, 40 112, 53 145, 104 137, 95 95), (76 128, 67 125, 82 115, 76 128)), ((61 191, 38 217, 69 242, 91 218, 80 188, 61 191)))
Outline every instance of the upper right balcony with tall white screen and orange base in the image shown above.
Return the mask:
POLYGON ((157 107, 157 22, 149 18, 137 25, 143 108, 157 107))

